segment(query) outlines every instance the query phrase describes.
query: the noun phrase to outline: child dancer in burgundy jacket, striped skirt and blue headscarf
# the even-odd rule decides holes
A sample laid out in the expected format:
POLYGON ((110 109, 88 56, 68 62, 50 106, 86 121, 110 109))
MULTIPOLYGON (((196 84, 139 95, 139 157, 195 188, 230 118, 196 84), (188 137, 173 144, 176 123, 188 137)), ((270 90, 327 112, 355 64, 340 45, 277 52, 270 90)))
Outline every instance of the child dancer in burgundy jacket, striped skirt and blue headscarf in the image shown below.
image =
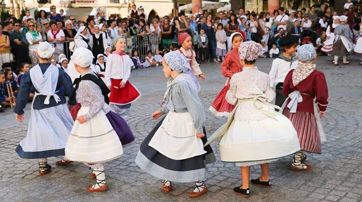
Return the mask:
POLYGON ((283 84, 287 100, 281 112, 293 123, 301 148, 294 153, 291 169, 305 171, 312 167, 303 163, 307 156, 302 151, 321 153, 321 142, 326 140, 320 118, 327 109, 328 87, 324 73, 316 70, 313 64, 316 59, 314 47, 300 46, 297 56, 298 66, 287 74, 283 84))

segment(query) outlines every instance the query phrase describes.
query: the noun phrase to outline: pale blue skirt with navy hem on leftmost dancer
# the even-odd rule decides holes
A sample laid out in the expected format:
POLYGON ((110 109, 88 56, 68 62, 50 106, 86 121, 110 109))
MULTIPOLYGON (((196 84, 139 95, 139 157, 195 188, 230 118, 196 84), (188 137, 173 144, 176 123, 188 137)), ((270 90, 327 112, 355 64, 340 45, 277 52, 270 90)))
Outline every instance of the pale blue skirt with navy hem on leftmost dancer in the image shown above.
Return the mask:
POLYGON ((63 156, 73 123, 66 104, 31 109, 28 132, 15 151, 22 159, 63 156))

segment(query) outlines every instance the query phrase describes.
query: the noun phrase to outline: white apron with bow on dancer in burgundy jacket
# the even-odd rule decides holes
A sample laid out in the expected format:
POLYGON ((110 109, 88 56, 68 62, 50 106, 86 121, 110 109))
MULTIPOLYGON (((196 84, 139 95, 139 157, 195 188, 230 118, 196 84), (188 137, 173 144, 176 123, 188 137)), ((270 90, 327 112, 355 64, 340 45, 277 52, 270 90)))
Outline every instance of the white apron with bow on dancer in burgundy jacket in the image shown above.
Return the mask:
MULTIPOLYGON (((290 113, 296 113, 296 107, 297 107, 298 103, 303 101, 303 97, 302 97, 301 94, 305 94, 305 95, 310 96, 309 94, 300 93, 299 91, 291 92, 288 95, 288 97, 286 98, 286 100, 284 101, 284 103, 283 103, 283 105, 281 107, 281 110, 279 110, 279 113, 283 113, 288 100, 291 100, 289 102, 288 106, 287 106, 287 108, 290 109, 290 113)), ((315 99, 313 99, 313 108, 314 108, 314 117, 316 119, 317 129, 318 129, 319 136, 320 136, 320 142, 321 143, 326 142, 327 138, 326 138, 325 133, 324 133, 322 121, 321 121, 321 119, 319 117, 319 110, 317 108, 317 104, 315 103, 315 99)))

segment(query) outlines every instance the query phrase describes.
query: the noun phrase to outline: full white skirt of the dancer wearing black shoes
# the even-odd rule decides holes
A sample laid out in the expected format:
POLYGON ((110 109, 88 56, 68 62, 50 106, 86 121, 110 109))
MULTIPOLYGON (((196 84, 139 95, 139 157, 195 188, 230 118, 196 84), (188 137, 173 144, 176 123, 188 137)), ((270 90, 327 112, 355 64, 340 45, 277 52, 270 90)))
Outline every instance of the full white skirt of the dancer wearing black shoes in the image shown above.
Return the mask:
POLYGON ((277 114, 275 118, 262 121, 234 119, 219 142, 221 161, 251 166, 299 151, 298 136, 292 123, 282 114, 274 113, 277 114))

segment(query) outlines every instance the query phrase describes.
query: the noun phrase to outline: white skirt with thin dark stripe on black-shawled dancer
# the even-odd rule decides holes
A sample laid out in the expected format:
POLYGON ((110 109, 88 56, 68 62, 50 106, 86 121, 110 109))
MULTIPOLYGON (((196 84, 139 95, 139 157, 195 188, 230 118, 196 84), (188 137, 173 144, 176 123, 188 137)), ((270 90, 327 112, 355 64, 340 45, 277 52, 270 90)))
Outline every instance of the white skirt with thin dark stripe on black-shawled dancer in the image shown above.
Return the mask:
MULTIPOLYGON (((87 114, 82 106, 77 114, 87 114)), ((75 121, 65 153, 68 159, 87 164, 104 163, 123 155, 122 144, 116 131, 102 110, 83 124, 75 121)))

